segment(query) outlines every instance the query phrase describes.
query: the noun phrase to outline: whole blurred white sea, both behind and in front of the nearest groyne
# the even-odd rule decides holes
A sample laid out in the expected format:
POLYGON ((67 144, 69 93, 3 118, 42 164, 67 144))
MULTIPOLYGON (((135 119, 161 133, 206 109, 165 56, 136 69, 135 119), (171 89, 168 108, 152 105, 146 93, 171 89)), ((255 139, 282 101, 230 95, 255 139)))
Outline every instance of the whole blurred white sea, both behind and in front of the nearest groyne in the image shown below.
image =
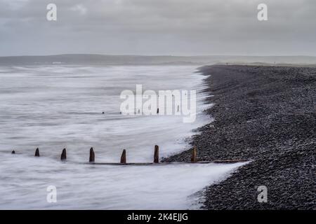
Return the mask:
POLYGON ((235 165, 116 167, 79 165, 90 147, 96 162, 151 162, 187 148, 184 139, 209 122, 198 94, 197 120, 122 116, 122 90, 202 90, 193 66, 27 66, 0 73, 1 209, 186 209, 192 195, 235 165), (102 112, 105 114, 102 114, 102 112), (41 158, 33 158, 39 147, 41 158), (67 163, 59 161, 67 148, 67 163), (9 154, 12 150, 22 155, 9 154), (46 202, 46 187, 58 203, 46 202))

